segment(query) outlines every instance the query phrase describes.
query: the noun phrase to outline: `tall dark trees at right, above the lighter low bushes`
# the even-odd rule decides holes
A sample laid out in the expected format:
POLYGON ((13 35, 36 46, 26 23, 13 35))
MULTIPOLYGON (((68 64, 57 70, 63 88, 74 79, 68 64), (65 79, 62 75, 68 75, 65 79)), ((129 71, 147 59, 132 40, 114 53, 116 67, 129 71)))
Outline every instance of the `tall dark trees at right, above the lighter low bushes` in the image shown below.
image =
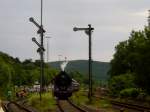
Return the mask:
POLYGON ((132 31, 129 39, 120 42, 115 50, 110 76, 133 73, 134 84, 150 94, 150 28, 132 31))

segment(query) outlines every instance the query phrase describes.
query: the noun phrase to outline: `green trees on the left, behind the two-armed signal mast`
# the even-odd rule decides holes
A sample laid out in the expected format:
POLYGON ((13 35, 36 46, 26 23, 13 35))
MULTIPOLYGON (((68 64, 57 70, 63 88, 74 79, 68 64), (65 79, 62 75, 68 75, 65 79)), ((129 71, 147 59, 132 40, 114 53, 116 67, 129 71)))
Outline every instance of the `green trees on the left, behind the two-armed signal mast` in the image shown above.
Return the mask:
MULTIPOLYGON (((50 69, 45 64, 44 84, 48 85, 57 74, 57 70, 50 69)), ((15 87, 32 86, 40 79, 40 61, 31 59, 21 62, 8 54, 0 52, 0 96, 7 98, 8 91, 14 96, 15 87)))

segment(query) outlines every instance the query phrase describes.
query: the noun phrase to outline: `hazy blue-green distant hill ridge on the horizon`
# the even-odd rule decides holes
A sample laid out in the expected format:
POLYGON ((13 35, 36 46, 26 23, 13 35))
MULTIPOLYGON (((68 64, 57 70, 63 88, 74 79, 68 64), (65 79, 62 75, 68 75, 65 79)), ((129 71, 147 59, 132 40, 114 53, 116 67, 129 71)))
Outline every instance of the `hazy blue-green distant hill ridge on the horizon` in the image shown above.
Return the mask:
MULTIPOLYGON (((49 65, 55 69, 60 70, 60 63, 62 61, 50 62, 49 65)), ((107 80, 108 79, 108 71, 110 68, 109 62, 92 62, 92 73, 93 78, 96 80, 107 80)), ((78 71, 83 75, 88 75, 88 60, 72 60, 69 61, 67 67, 65 68, 67 72, 78 71)))

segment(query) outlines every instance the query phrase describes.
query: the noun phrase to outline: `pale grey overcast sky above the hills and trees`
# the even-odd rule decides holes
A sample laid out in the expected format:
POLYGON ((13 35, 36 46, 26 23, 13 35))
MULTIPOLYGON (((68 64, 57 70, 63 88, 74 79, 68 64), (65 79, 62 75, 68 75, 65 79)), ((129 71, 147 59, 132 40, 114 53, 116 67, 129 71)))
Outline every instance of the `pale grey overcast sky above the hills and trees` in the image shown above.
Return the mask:
MULTIPOLYGON (((91 24, 92 59, 109 62, 120 41, 148 24, 149 5, 150 0, 43 0, 48 60, 88 59, 88 36, 73 27, 91 24)), ((40 23, 40 0, 0 0, 0 51, 20 60, 39 59, 38 46, 31 39, 40 37, 30 17, 40 23)))

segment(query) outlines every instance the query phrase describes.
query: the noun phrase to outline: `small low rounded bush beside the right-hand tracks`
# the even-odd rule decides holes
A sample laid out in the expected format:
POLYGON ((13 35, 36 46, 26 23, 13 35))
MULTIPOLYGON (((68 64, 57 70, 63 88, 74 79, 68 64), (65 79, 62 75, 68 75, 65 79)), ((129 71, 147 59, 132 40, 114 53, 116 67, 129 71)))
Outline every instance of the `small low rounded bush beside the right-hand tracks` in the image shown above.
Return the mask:
POLYGON ((139 93, 140 91, 137 88, 127 88, 120 91, 120 96, 136 98, 139 93))

